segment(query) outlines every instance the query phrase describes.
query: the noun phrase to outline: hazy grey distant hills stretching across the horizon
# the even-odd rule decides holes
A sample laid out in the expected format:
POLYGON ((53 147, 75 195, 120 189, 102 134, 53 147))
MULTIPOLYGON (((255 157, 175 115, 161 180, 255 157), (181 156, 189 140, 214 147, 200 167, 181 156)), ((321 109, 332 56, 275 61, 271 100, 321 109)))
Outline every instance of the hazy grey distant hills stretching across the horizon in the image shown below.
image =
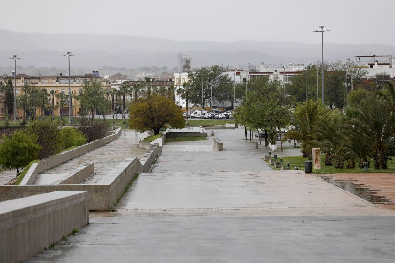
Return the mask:
MULTIPOLYGON (((71 58, 73 67, 135 68, 140 66, 177 65, 177 53, 191 56, 192 67, 218 64, 246 67, 248 63, 260 62, 313 63, 321 58, 320 37, 317 44, 283 41, 173 41, 159 37, 96 34, 44 34, 18 33, 0 30, 0 65, 9 65, 13 54, 23 58, 19 65, 35 67, 65 67, 66 51, 76 56, 71 58)), ((353 59, 361 54, 395 54, 395 46, 380 44, 334 44, 324 43, 324 60, 353 59)))

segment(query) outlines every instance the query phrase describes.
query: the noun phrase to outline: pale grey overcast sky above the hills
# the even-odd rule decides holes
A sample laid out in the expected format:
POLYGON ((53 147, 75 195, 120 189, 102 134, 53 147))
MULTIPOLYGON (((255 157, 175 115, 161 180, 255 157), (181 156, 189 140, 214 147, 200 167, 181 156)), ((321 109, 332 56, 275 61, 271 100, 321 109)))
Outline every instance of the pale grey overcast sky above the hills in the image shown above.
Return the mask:
POLYGON ((0 28, 174 40, 395 43, 395 0, 8 0, 0 28), (377 11, 376 11, 377 10, 377 11), (382 17, 382 18, 381 18, 382 17))

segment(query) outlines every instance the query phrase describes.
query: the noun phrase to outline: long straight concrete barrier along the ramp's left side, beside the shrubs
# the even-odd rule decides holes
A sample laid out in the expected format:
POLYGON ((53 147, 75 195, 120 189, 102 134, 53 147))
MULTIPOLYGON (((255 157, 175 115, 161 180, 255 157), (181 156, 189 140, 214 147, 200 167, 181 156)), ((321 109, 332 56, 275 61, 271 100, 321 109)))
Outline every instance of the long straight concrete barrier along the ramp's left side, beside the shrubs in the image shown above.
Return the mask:
POLYGON ((51 169, 71 159, 74 159, 75 157, 78 157, 84 153, 87 153, 88 151, 103 146, 104 144, 108 144, 109 142, 118 139, 121 133, 122 133, 122 129, 118 128, 114 134, 98 139, 94 142, 81 145, 70 151, 64 151, 63 153, 53 155, 51 157, 41 160, 41 162, 33 164, 32 166, 30 166, 30 169, 23 177, 23 180, 21 181, 20 185, 33 185, 39 173, 42 173, 48 169, 51 169))

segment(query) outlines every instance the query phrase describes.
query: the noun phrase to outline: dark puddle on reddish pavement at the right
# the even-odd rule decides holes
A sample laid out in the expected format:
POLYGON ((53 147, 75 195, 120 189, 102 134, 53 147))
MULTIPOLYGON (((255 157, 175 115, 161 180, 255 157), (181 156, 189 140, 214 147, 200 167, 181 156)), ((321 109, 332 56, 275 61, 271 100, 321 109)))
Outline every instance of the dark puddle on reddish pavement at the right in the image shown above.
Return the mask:
POLYGON ((337 187, 342 188, 343 190, 346 190, 350 193, 353 193, 356 196, 359 196, 360 198, 363 198, 371 203, 381 204, 381 205, 395 205, 395 203, 393 203, 392 200, 387 199, 385 196, 377 195, 378 193, 377 190, 369 189, 366 187, 366 185, 353 183, 350 181, 335 180, 332 179, 333 176, 331 175, 321 175, 320 177, 325 181, 327 181, 328 183, 331 183, 332 185, 336 185, 337 187))

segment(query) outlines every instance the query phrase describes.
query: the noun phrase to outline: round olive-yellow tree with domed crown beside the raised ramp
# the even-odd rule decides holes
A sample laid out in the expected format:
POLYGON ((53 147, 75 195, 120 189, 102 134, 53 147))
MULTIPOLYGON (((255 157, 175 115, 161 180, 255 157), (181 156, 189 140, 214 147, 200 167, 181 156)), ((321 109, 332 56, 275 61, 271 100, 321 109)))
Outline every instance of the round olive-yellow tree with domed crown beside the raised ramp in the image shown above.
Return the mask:
POLYGON ((147 96, 130 105, 130 129, 137 132, 153 131, 154 135, 168 123, 171 127, 184 127, 181 109, 172 99, 157 94, 147 96))

